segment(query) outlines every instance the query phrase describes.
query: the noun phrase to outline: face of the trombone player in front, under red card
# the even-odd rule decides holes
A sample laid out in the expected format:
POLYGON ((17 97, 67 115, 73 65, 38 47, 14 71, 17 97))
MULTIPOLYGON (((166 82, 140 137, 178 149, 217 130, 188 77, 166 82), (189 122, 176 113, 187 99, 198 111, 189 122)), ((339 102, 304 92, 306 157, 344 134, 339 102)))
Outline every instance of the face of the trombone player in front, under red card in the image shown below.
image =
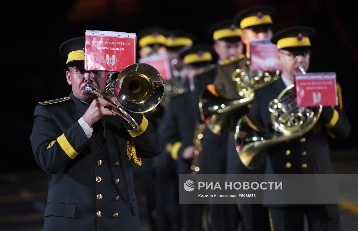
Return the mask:
POLYGON ((72 86, 73 95, 79 100, 91 103, 97 98, 96 95, 86 91, 87 84, 104 90, 110 77, 105 71, 86 71, 84 68, 69 67, 71 71, 66 71, 66 78, 69 85, 72 86))

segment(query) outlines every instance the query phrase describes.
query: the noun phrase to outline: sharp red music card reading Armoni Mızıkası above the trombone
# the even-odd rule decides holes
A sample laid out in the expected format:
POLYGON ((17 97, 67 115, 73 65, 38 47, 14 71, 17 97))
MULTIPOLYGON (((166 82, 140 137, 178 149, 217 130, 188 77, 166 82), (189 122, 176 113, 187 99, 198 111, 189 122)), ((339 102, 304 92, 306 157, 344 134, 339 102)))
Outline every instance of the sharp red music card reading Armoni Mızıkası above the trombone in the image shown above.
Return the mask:
POLYGON ((136 61, 136 34, 86 30, 84 69, 120 72, 136 61))

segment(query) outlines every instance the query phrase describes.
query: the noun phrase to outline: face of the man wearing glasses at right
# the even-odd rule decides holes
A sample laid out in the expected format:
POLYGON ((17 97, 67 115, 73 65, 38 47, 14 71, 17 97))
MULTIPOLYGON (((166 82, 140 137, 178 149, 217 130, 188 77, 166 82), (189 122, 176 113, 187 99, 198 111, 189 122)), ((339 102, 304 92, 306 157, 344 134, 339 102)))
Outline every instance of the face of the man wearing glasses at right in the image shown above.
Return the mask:
POLYGON ((280 49, 277 51, 277 58, 283 67, 284 73, 295 76, 296 73, 301 73, 299 66, 302 65, 304 71, 307 71, 310 63, 310 52, 289 52, 288 50, 280 49))

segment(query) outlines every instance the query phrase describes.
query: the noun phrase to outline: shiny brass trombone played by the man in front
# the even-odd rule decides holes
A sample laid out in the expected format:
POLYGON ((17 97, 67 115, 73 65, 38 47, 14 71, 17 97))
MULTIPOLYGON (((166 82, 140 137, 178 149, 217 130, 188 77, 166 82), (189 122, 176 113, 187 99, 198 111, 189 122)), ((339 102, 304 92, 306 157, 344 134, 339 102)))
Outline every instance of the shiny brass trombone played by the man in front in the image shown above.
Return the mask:
POLYGON ((134 63, 124 68, 116 80, 106 86, 105 91, 108 90, 118 99, 119 105, 98 89, 86 86, 87 92, 110 102, 109 109, 137 130, 139 125, 128 111, 144 113, 156 107, 163 97, 164 82, 154 67, 145 63, 134 63))

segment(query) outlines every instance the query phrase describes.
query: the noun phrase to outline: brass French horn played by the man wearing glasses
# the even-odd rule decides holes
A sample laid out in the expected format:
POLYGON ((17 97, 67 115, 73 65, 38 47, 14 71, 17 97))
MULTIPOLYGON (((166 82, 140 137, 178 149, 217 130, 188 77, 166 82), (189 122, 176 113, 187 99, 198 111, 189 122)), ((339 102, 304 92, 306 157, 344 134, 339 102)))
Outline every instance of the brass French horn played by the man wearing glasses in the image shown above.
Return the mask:
MULTIPOLYGON (((303 68, 300 67, 301 71, 303 68)), ((242 163, 249 169, 257 169, 265 160, 265 150, 284 141, 298 138, 310 131, 318 121, 322 106, 299 107, 292 98, 294 84, 286 87, 280 95, 271 100, 271 124, 274 133, 262 130, 257 118, 244 115, 235 130, 236 150, 242 163)))

